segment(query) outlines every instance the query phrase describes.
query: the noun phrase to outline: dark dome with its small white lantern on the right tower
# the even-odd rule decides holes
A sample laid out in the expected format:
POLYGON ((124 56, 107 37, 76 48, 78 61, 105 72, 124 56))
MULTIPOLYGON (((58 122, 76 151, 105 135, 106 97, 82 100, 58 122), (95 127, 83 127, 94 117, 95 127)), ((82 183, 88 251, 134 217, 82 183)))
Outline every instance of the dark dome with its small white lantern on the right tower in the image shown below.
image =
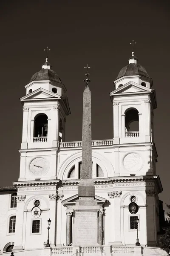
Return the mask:
POLYGON ((135 75, 141 75, 149 77, 145 68, 142 67, 140 64, 137 64, 138 59, 132 55, 129 59, 129 64, 125 67, 123 67, 119 75, 116 77, 116 79, 119 79, 122 76, 135 76, 135 75))

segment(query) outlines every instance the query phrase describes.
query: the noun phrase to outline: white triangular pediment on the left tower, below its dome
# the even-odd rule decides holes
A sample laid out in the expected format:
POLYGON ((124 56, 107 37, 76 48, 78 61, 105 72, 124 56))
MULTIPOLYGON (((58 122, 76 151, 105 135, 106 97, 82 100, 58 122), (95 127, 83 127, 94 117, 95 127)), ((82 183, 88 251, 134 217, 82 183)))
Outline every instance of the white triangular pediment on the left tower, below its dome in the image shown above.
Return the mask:
POLYGON ((39 88, 32 93, 27 94, 26 96, 23 96, 20 100, 28 100, 28 99, 45 99, 45 98, 60 98, 59 95, 53 92, 49 92, 48 90, 45 90, 43 88, 39 88))

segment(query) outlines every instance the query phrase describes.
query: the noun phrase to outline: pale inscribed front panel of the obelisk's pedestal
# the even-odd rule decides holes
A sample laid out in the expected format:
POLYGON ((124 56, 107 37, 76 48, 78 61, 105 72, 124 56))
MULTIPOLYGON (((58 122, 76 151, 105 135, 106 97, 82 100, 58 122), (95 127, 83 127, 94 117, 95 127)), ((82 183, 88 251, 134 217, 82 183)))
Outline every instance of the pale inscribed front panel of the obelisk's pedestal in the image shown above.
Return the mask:
POLYGON ((97 244, 97 212, 76 212, 74 232, 74 244, 97 244))

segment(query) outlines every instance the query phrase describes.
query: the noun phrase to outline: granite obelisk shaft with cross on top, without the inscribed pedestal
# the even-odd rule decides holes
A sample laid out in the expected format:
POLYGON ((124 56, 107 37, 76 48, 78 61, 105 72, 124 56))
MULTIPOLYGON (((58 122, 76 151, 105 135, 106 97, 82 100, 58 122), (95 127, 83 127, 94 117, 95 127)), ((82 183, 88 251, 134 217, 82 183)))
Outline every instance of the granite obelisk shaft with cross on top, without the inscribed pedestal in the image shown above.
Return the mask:
POLYGON ((82 177, 79 183, 79 204, 83 201, 91 201, 95 204, 95 188, 92 180, 92 154, 91 154, 91 91, 89 88, 88 65, 85 90, 83 93, 83 116, 82 116, 82 177))

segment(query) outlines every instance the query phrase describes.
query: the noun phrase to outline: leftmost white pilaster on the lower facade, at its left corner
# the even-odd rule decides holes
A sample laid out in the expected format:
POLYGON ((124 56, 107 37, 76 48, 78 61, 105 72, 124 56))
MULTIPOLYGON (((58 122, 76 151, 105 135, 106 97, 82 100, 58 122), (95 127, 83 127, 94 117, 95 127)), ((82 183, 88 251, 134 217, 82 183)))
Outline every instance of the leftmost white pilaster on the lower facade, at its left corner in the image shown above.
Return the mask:
POLYGON ((14 250, 23 250, 23 218, 24 218, 24 201, 26 195, 17 196, 17 215, 16 215, 16 226, 15 234, 17 234, 17 239, 13 247, 14 250))

